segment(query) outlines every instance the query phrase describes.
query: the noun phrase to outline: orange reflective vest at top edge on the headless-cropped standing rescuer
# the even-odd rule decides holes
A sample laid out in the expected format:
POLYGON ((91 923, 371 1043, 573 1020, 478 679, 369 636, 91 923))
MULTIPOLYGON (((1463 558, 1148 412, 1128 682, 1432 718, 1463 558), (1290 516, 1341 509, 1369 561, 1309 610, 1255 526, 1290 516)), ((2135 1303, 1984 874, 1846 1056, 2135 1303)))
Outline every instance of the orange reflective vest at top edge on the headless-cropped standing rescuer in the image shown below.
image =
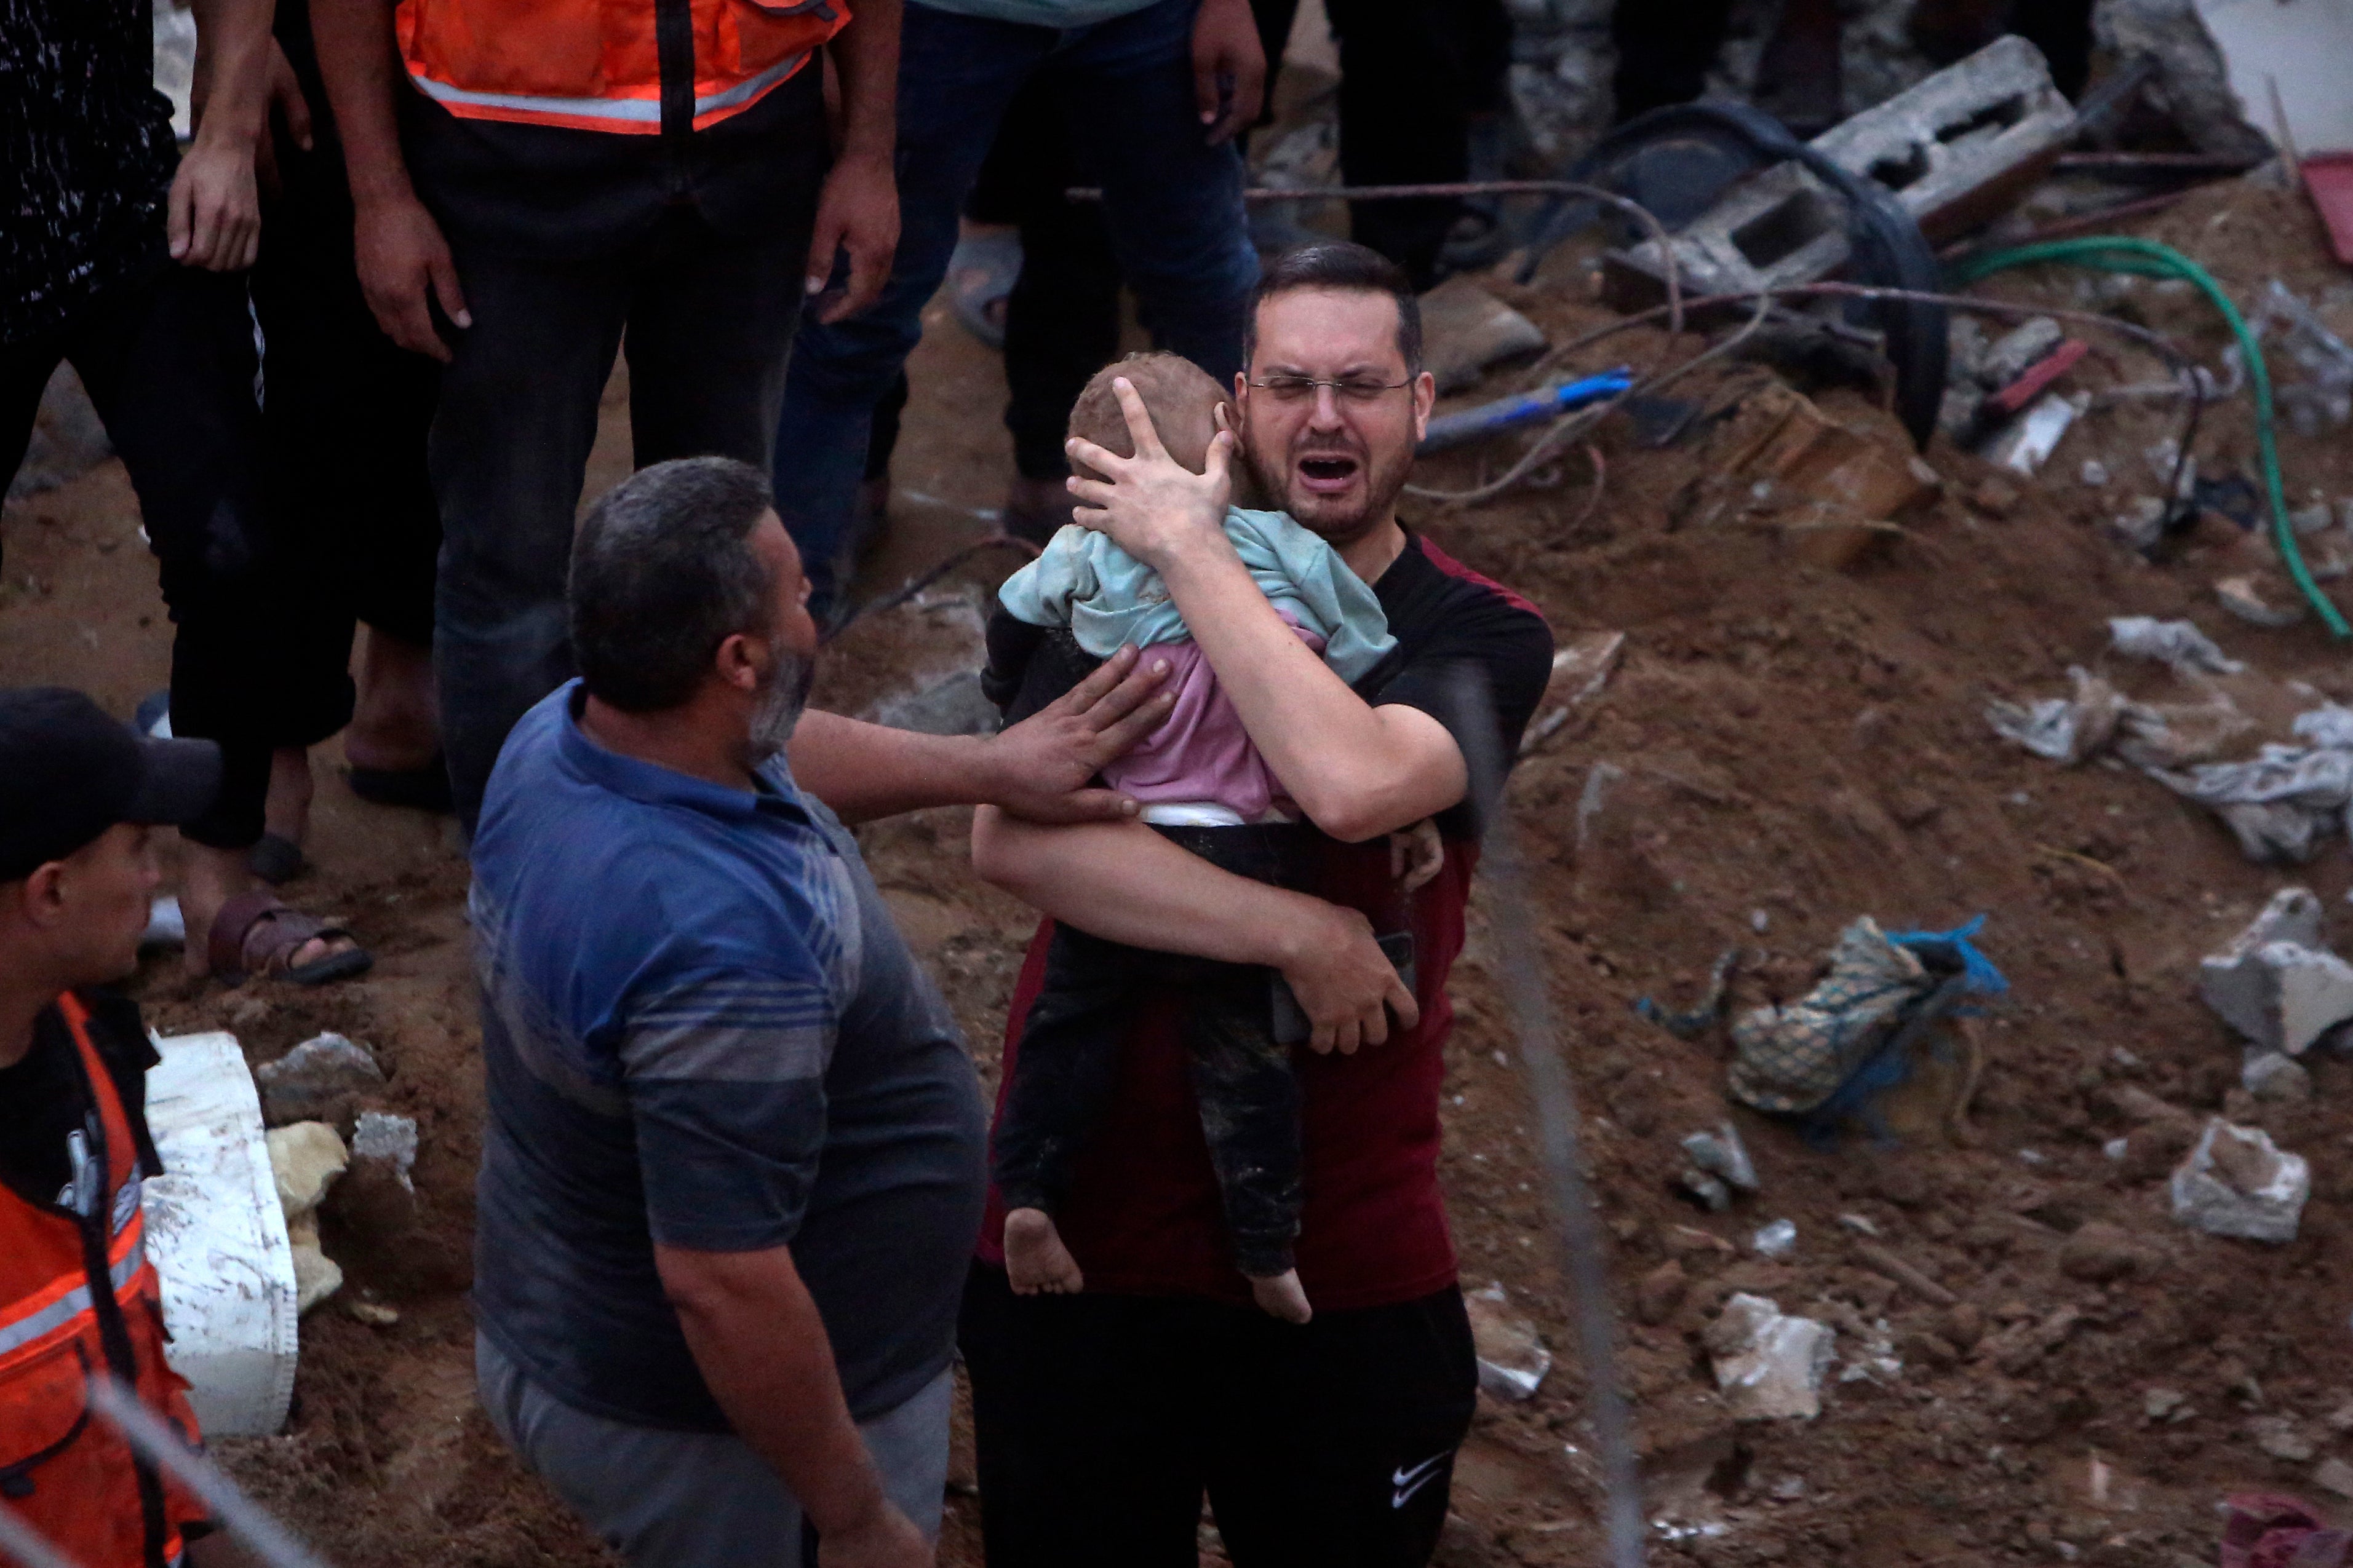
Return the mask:
POLYGON ((758 103, 847 0, 400 0, 400 59, 464 120, 685 132, 758 103))

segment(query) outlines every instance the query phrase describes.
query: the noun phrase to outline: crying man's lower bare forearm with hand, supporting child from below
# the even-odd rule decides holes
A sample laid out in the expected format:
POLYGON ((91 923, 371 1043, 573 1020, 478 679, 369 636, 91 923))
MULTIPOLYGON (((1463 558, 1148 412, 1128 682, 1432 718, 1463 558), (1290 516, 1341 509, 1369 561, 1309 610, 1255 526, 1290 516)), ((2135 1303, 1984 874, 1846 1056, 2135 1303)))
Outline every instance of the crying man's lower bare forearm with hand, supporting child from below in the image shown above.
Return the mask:
POLYGON ((1144 823, 1042 827, 984 806, 972 865, 1059 922, 1129 947, 1280 969, 1315 1051, 1412 1030, 1421 1009, 1355 910, 1224 872, 1144 823))

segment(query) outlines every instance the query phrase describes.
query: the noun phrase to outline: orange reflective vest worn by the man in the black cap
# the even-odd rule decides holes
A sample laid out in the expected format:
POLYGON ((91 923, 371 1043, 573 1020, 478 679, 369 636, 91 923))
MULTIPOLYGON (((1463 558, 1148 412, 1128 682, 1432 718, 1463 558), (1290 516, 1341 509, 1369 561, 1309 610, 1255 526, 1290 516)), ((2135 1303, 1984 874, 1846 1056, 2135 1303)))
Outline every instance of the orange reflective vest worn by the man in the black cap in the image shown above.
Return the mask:
POLYGON ((165 1568, 205 1507, 136 1460, 89 1408, 115 1375, 195 1441, 186 1382, 162 1359, 162 1295, 139 1218, 139 1143, 89 1013, 56 999, 94 1112, 73 1133, 73 1187, 33 1204, 0 1187, 0 1507, 80 1568, 165 1568))

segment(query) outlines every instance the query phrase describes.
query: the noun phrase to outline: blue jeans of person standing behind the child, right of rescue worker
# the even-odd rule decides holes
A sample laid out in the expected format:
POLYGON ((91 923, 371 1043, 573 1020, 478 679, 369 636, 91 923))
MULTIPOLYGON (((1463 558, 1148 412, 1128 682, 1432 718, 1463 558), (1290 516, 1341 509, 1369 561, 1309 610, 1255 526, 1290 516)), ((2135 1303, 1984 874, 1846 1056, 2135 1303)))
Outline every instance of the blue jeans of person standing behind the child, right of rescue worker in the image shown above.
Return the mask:
POLYGON ((955 221, 998 120, 1033 75, 1054 87, 1080 169, 1104 186, 1120 273, 1153 339, 1219 381, 1242 362, 1259 280, 1242 158, 1207 146, 1193 106, 1198 0, 1153 0, 1085 28, 955 16, 920 0, 899 40, 899 254, 873 308, 800 327, 776 421, 776 515, 800 545, 809 609, 847 578, 875 404, 922 336, 955 221))

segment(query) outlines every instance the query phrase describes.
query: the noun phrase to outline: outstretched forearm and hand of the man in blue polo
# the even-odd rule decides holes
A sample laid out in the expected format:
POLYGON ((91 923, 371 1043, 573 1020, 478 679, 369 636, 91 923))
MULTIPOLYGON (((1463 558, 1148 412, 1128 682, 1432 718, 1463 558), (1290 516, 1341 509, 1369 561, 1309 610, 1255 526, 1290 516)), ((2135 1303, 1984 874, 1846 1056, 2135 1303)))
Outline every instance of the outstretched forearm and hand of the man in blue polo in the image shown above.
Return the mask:
POLYGON ((1120 649, 1104 668, 1028 719, 988 736, 920 736, 809 710, 793 731, 793 778, 845 823, 927 806, 1002 806, 1040 823, 1134 816, 1115 790, 1092 790, 1106 762, 1169 712, 1167 661, 1120 649))

